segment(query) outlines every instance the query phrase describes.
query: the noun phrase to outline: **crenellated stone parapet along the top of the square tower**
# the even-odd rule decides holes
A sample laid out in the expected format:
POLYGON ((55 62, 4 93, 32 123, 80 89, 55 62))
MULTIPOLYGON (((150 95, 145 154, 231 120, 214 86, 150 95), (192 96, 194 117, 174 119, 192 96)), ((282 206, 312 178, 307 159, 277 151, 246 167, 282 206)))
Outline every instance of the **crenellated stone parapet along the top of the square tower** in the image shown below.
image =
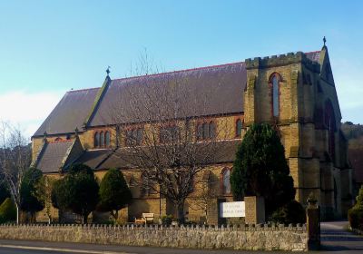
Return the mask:
POLYGON ((280 54, 280 55, 271 55, 261 57, 255 57, 253 59, 248 58, 245 60, 246 69, 263 69, 263 68, 270 68, 270 67, 277 67, 289 64, 304 64, 308 67, 311 71, 319 73, 320 71, 320 64, 317 62, 311 61, 306 54, 303 52, 297 53, 288 53, 288 54, 280 54))

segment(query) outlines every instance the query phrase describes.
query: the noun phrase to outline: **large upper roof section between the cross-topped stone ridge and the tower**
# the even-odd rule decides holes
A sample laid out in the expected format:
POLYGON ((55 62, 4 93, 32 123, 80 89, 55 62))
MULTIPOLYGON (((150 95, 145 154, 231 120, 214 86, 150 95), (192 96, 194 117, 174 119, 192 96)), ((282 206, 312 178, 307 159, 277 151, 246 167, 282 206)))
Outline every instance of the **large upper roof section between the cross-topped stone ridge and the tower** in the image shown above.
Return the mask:
MULTIPOLYGON (((110 83, 90 125, 116 123, 114 112, 122 111, 124 116, 130 116, 135 106, 147 108, 151 102, 148 97, 153 96, 152 103, 161 103, 155 109, 165 107, 166 100, 160 99, 162 96, 174 96, 179 106, 177 117, 243 112, 246 79, 242 62, 116 79, 110 83)), ((130 119, 120 117, 117 123, 142 122, 149 117, 150 114, 130 119)))

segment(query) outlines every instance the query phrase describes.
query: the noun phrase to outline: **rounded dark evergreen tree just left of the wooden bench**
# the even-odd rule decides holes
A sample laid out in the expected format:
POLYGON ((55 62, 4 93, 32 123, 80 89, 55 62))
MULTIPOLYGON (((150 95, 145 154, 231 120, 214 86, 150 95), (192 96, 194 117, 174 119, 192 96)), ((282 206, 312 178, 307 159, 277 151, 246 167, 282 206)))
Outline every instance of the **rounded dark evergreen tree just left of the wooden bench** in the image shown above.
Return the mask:
POLYGON ((132 200, 131 190, 123 178, 122 171, 110 169, 100 184, 100 208, 110 211, 117 221, 118 211, 126 207, 132 200))

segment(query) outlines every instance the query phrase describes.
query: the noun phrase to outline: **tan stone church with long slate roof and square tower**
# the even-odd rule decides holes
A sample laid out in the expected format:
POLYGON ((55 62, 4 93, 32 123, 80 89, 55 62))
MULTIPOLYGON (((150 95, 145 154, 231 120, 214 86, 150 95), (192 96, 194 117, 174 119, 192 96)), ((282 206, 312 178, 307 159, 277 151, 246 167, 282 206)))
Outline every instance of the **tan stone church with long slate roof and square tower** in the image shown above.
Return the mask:
MULTIPOLYGON (((128 101, 139 99, 127 96, 126 90, 145 83, 148 85, 143 91, 152 86, 166 87, 171 85, 171 78, 182 81, 179 89, 190 94, 182 98, 182 104, 192 106, 184 117, 193 119, 191 124, 201 131, 196 132, 196 141, 211 138, 221 122, 231 127, 231 132, 215 135, 227 152, 201 173, 203 179, 211 181, 214 193, 207 209, 210 223, 218 219, 218 202, 232 200, 230 173, 235 151, 254 122, 270 122, 278 130, 297 190, 296 200, 306 205, 313 192, 323 218, 346 216, 352 204, 352 169, 347 140, 340 131, 341 113, 326 45, 315 52, 255 57, 172 73, 122 79, 111 79, 107 74, 102 87, 64 94, 32 137, 34 167, 54 178, 62 177, 74 163, 89 165, 99 179, 112 167, 120 169, 133 199, 122 211, 123 220, 132 221, 142 212, 152 212, 156 218, 175 215, 169 200, 142 188, 140 173, 123 160, 127 137, 118 137, 117 132, 122 123, 136 133, 142 145, 138 130, 149 127, 128 117, 132 113, 128 101), (116 119, 113 106, 120 102, 124 114, 116 119)), ((162 135, 160 139, 162 142, 162 135)), ((197 196, 191 193, 185 203, 189 220, 205 217, 197 196)))

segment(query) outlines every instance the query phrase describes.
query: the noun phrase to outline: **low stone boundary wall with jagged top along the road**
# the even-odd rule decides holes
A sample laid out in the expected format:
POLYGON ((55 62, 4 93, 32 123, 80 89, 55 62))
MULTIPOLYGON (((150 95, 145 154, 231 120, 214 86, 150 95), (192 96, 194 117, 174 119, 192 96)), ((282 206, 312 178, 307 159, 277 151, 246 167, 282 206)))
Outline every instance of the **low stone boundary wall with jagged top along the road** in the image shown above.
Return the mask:
POLYGON ((306 226, 162 227, 0 225, 0 239, 189 249, 308 250, 306 226))

